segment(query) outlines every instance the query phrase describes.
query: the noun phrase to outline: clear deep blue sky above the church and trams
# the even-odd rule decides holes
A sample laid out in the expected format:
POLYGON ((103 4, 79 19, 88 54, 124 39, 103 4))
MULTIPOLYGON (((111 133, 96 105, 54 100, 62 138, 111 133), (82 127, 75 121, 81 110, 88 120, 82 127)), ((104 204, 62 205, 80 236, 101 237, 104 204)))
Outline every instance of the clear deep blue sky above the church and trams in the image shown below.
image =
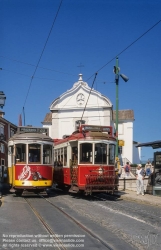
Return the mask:
MULTIPOLYGON (((89 86, 98 71, 94 88, 115 109, 115 57, 161 20, 159 0, 64 0, 34 74, 60 1, 0 2, 0 90, 5 118, 16 125, 25 104, 26 124, 41 126, 52 101, 78 80, 80 63, 89 86)), ((129 77, 119 81, 119 109, 134 110, 134 140, 160 140, 161 22, 119 55, 119 66, 129 77)), ((143 148, 142 160, 151 157, 143 148)))

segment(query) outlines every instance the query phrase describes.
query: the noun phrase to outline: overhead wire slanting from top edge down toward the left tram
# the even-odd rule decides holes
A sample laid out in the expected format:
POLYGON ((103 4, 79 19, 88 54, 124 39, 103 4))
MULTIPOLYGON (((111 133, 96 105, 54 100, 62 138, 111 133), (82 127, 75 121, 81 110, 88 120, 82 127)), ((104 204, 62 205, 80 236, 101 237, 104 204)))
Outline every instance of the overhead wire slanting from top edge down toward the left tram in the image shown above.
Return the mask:
POLYGON ((46 45, 47 45, 47 43, 48 43, 49 37, 50 37, 50 35, 51 35, 52 29, 53 29, 54 24, 55 24, 55 22, 56 22, 58 13, 59 13, 59 11, 60 11, 60 7, 61 7, 61 5, 62 5, 62 2, 63 2, 63 0, 60 1, 58 10, 57 10, 57 12, 56 12, 56 15, 55 15, 54 21, 53 21, 53 23, 52 23, 51 29, 50 29, 50 31, 49 31, 48 37, 47 37, 47 39, 46 39, 45 45, 44 45, 44 47, 43 47, 43 49, 42 49, 42 52, 41 52, 41 54, 40 54, 38 63, 37 63, 37 65, 36 65, 36 68, 35 68, 35 70, 34 70, 34 73, 33 73, 32 77, 31 77, 30 84, 29 84, 28 91, 27 91, 27 95, 26 95, 26 98, 25 98, 25 101, 24 101, 23 109, 24 109, 24 107, 25 107, 25 104, 26 104, 26 101, 27 101, 27 98, 28 98, 28 95, 29 95, 29 91, 30 91, 30 88, 31 88, 31 84, 32 84, 33 78, 34 78, 34 76, 35 76, 35 74, 36 74, 38 65, 39 65, 39 63, 40 63, 40 60, 41 60, 41 58, 42 58, 42 55, 43 55, 44 50, 45 50, 45 48, 46 48, 46 45))

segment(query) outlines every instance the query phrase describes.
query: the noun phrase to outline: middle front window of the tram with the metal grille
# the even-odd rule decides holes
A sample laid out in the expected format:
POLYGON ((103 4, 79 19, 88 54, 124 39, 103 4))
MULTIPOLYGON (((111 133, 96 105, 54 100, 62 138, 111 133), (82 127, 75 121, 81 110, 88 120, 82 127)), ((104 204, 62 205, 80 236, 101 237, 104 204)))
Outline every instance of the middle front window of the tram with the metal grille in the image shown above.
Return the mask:
POLYGON ((107 144, 95 144, 95 164, 107 164, 107 144))

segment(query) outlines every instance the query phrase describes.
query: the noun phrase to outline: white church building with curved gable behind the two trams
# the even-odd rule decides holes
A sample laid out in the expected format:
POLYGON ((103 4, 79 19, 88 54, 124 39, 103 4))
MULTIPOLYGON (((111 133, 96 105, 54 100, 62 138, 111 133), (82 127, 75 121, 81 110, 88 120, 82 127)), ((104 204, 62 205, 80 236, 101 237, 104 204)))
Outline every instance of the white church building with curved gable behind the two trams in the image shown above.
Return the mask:
MULTIPOLYGON (((121 165, 126 161, 140 163, 140 149, 133 141, 133 110, 119 110, 118 139, 124 141, 120 148, 121 165)), ((115 126, 115 111, 109 98, 91 89, 79 74, 78 82, 70 90, 56 98, 50 105, 43 127, 56 139, 70 135, 79 121, 88 125, 115 126)))

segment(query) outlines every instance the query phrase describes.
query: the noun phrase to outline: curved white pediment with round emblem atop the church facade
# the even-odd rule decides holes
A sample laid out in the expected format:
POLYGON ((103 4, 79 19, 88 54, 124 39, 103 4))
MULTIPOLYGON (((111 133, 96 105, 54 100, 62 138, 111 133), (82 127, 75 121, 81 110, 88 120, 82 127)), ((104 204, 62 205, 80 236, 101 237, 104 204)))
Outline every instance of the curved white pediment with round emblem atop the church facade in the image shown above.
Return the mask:
POLYGON ((91 90, 80 74, 78 82, 51 103, 50 110, 82 109, 85 105, 86 109, 112 107, 111 101, 95 89, 91 90))

